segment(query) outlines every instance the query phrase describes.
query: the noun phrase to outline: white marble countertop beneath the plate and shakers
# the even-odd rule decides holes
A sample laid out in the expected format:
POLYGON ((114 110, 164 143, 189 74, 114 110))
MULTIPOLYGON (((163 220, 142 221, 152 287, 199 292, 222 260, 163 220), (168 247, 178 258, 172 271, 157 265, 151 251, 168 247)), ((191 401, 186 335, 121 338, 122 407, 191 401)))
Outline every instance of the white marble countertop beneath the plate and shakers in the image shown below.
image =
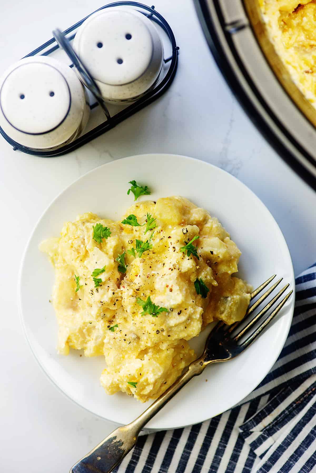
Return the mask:
MULTIPOLYGON (((11 0, 1 22, 0 71, 51 38, 56 26, 65 29, 102 5, 99 0, 11 0)), ((316 260, 316 193, 276 155, 232 96, 192 1, 158 0, 155 7, 181 48, 177 75, 163 97, 60 158, 13 152, 0 139, 3 472, 68 472, 113 429, 68 400, 45 377, 18 314, 16 281, 27 239, 46 206, 73 180, 128 155, 168 152, 203 159, 235 175, 267 205, 288 242, 296 274, 316 260)))

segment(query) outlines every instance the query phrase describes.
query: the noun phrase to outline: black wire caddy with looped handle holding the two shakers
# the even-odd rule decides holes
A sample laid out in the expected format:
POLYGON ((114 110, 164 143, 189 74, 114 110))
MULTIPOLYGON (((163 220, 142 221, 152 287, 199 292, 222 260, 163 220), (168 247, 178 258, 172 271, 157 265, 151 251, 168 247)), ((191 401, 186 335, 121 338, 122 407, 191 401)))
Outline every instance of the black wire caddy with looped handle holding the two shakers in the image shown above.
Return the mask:
MULTIPOLYGON (((88 93, 90 96, 90 110, 99 109, 99 122, 101 123, 94 123, 92 128, 89 130, 89 119, 88 125, 86 126, 85 130, 81 133, 81 135, 76 138, 75 140, 71 141, 67 144, 62 144, 57 149, 47 149, 47 150, 38 150, 32 149, 27 146, 23 146, 12 140, 7 133, 0 127, 0 133, 8 143, 13 146, 13 150, 19 150, 27 154, 31 154, 34 156, 40 156, 44 158, 50 158, 54 156, 61 156, 65 153, 73 151, 74 149, 80 148, 85 143, 97 138, 98 136, 102 135, 108 130, 114 128, 117 124, 126 120, 126 118, 130 117, 131 115, 135 114, 139 110, 143 109, 147 105, 151 104, 154 100, 158 97, 162 96, 163 93, 170 87, 172 84, 172 80, 176 74, 177 70, 177 63, 178 63, 178 51, 179 47, 176 44, 176 40, 174 34, 172 32, 171 27, 169 26, 168 22, 163 18, 160 13, 155 11, 154 6, 148 7, 142 3, 134 2, 134 1, 116 1, 113 3, 109 3, 104 5, 103 7, 93 11, 87 17, 83 18, 81 21, 77 22, 75 25, 67 28, 63 32, 56 29, 53 31, 54 37, 47 41, 45 44, 42 44, 38 48, 36 48, 31 53, 24 56, 25 58, 35 55, 42 55, 48 56, 54 52, 58 52, 58 50, 63 50, 68 58, 72 61, 69 67, 75 67, 80 74, 81 81, 83 82, 84 86, 88 89, 88 93), (100 11, 102 9, 110 8, 110 7, 119 7, 119 6, 131 6, 135 7, 137 11, 144 14, 147 18, 151 21, 155 22, 156 25, 160 26, 163 32, 166 34, 167 40, 170 42, 171 45, 171 55, 167 58, 163 59, 163 67, 166 67, 168 64, 168 69, 164 70, 161 73, 160 78, 156 81, 156 83, 150 88, 147 92, 145 92, 142 96, 138 97, 135 102, 132 104, 124 105, 124 103, 120 103, 119 105, 112 105, 106 104, 103 100, 99 87, 90 75, 89 70, 84 66, 78 55, 74 52, 71 41, 75 36, 73 33, 81 24, 89 18, 91 15, 100 11), (52 47, 50 47, 52 46, 52 47), (163 76, 163 77, 162 77, 163 76), (112 109, 112 110, 111 110, 112 109)), ((92 119, 92 122, 96 122, 96 120, 92 119)))

